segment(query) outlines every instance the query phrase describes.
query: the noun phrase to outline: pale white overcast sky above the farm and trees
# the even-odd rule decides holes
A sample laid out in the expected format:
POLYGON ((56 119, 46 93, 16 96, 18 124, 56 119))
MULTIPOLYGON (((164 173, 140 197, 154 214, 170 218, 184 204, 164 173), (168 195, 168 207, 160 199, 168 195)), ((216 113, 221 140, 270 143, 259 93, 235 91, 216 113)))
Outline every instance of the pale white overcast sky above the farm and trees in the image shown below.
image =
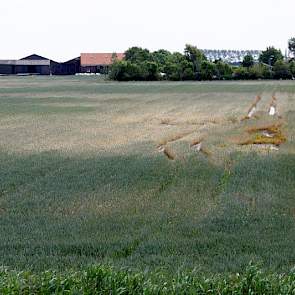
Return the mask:
POLYGON ((0 59, 57 61, 130 46, 284 50, 295 0, 0 0, 0 59))

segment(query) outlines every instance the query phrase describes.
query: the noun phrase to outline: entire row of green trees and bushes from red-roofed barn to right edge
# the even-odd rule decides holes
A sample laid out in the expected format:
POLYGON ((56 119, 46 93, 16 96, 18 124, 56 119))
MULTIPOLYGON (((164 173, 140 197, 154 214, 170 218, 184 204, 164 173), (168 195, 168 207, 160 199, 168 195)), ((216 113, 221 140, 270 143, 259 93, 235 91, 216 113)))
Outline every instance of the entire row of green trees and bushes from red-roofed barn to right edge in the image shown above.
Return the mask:
MULTIPOLYGON (((289 40, 289 49, 295 56, 295 38, 289 40)), ((211 62, 189 44, 184 53, 132 47, 121 61, 114 55, 109 77, 117 81, 294 79, 295 60, 284 60, 281 50, 274 47, 262 51, 258 62, 246 55, 239 66, 221 59, 211 62)))

